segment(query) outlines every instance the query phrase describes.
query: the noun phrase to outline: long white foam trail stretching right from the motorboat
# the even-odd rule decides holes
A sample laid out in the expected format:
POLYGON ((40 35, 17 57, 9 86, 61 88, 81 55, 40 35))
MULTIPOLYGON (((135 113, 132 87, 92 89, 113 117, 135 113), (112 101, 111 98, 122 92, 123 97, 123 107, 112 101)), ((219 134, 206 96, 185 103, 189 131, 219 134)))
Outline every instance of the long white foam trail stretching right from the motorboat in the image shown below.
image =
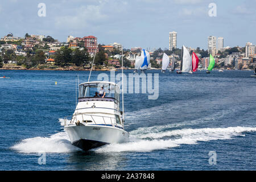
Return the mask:
POLYGON ((218 139, 232 139, 232 137, 243 136, 243 132, 256 131, 256 127, 228 127, 228 128, 205 128, 205 129, 182 129, 164 131, 160 133, 131 135, 131 142, 121 144, 109 144, 98 148, 96 152, 150 152, 153 150, 164 150, 177 147, 180 144, 197 144, 199 141, 218 139), (169 137, 170 139, 162 139, 169 137), (171 138, 174 137, 174 138, 171 138), (176 138, 175 138, 176 137, 176 138), (145 139, 147 138, 147 139, 145 139))

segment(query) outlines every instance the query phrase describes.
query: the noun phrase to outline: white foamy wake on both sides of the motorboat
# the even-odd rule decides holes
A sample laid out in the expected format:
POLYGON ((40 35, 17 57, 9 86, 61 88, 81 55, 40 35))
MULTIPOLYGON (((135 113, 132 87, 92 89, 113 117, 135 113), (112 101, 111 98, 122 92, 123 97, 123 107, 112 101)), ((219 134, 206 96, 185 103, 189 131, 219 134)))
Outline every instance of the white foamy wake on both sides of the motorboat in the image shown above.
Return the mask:
MULTIPOLYGON (((63 126, 63 119, 59 119, 63 126)), ((130 142, 108 144, 93 149, 97 153, 105 152, 150 152, 167 150, 181 144, 197 144, 200 141, 226 140, 245 136, 246 132, 255 132, 256 127, 226 127, 173 130, 173 125, 141 127, 130 132, 130 142)), ((15 144, 11 149, 22 153, 61 153, 77 152, 80 148, 72 146, 65 131, 50 137, 28 138, 15 144)))

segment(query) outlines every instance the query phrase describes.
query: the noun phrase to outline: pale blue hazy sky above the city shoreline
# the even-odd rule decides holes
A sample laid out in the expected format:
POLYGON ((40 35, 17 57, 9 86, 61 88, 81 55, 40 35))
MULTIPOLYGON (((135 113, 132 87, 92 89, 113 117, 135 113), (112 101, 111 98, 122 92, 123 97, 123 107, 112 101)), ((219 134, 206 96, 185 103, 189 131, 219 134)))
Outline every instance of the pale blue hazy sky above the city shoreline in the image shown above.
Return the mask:
MULTIPOLYGON (((124 48, 169 48, 169 32, 177 32, 177 47, 207 49, 208 36, 224 38, 224 47, 256 44, 256 0, 1 0, 0 37, 93 35, 98 43, 124 48), (39 3, 46 16, 39 16, 39 3), (209 16, 210 3, 216 16, 209 16)), ((41 11, 40 11, 41 12, 41 11)))

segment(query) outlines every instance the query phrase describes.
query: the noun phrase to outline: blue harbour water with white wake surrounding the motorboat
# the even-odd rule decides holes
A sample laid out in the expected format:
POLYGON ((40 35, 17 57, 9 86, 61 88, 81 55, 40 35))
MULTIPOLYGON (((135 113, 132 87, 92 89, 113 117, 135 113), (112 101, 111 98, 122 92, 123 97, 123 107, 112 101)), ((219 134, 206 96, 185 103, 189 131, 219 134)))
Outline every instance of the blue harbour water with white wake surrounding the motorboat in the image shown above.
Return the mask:
MULTIPOLYGON (((91 80, 100 73, 110 75, 91 80)), ((0 170, 256 169, 253 72, 147 73, 159 73, 159 97, 125 94, 130 142, 84 152, 71 145, 63 118, 75 110, 77 75, 85 82, 89 72, 1 70, 10 79, 0 79, 0 170)))

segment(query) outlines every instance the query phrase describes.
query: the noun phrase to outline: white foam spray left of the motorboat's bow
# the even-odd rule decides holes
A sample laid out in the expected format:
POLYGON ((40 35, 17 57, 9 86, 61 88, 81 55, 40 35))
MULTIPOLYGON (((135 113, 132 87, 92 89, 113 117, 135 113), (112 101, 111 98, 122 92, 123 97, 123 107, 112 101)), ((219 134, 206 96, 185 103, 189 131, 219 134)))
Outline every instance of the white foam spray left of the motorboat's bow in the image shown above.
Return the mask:
POLYGON ((51 135, 50 137, 24 139, 11 148, 22 153, 61 153, 80 151, 79 148, 72 146, 68 134, 65 132, 60 132, 51 135))

